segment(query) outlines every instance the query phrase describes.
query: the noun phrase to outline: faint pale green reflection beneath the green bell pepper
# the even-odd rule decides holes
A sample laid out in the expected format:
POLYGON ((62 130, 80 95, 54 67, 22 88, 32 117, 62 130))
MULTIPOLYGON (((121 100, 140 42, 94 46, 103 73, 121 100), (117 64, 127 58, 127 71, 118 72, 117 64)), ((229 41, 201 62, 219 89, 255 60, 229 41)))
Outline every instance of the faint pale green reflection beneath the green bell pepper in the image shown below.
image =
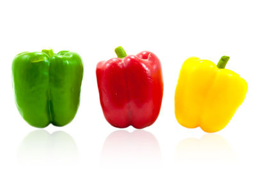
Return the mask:
POLYGON ((46 130, 30 132, 19 145, 17 159, 21 164, 74 163, 79 158, 76 142, 63 131, 49 134, 46 130))

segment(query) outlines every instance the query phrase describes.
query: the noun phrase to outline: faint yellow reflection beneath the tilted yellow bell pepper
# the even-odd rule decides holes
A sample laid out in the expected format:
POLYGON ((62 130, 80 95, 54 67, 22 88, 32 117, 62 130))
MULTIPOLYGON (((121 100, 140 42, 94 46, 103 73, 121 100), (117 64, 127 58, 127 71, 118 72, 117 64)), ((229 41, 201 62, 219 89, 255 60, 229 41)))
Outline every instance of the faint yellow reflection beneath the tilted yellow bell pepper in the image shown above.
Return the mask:
POLYGON ((236 163, 236 153, 221 135, 205 134, 200 139, 188 138, 180 141, 175 149, 175 162, 236 163))

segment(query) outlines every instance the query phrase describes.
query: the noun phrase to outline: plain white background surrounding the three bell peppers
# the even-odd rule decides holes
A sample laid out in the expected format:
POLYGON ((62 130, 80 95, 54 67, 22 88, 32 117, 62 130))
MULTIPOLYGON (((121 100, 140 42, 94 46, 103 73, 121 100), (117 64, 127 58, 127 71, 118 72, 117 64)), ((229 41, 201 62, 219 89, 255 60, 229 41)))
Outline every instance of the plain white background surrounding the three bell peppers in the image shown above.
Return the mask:
POLYGON ((0 169, 255 169, 255 1, 0 1, 0 169), (156 123, 111 127, 99 102, 95 67, 127 54, 161 60, 164 97, 156 123), (81 103, 72 123, 38 129, 22 120, 12 90, 12 59, 23 51, 74 50, 84 61, 81 103), (207 134, 177 123, 174 93, 190 56, 217 63, 248 82, 226 128, 207 134))

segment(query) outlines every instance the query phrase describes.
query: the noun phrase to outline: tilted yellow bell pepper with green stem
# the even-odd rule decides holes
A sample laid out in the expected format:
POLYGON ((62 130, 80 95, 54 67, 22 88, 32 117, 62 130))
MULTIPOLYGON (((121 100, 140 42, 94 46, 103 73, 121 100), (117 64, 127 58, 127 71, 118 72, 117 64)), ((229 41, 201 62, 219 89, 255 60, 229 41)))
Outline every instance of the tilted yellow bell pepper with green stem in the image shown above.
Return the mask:
POLYGON ((223 56, 217 66, 195 57, 184 62, 175 91, 175 116, 180 125, 217 132, 231 120, 245 98, 247 83, 224 69, 228 59, 223 56))

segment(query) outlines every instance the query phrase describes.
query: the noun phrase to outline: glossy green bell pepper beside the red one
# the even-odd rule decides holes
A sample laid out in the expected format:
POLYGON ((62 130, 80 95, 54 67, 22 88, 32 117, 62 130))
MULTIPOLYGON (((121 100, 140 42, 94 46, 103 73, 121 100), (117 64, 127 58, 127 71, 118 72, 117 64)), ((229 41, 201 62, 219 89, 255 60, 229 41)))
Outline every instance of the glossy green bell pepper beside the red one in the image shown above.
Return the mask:
POLYGON ((73 120, 79 106, 83 62, 76 52, 22 52, 12 63, 15 101, 29 125, 58 127, 73 120))

